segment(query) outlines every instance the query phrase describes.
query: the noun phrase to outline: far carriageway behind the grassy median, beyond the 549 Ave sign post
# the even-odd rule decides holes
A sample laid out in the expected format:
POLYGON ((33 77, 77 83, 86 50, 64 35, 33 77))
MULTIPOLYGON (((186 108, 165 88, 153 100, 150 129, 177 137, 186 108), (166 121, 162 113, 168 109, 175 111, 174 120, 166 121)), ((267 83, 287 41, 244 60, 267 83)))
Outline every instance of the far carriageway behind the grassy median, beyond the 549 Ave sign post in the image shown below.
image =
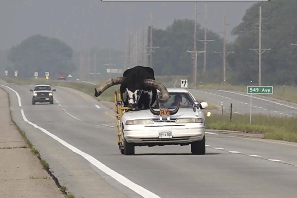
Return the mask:
MULTIPOLYGON (((250 113, 250 95, 236 91, 224 91, 214 89, 189 89, 197 95, 200 100, 208 101, 223 108, 226 113, 230 112, 230 104, 232 103, 232 112, 235 114, 250 113)), ((269 96, 269 95, 267 95, 269 96)), ((286 104, 287 102, 252 95, 252 114, 269 114, 274 116, 297 117, 297 104, 286 104)))

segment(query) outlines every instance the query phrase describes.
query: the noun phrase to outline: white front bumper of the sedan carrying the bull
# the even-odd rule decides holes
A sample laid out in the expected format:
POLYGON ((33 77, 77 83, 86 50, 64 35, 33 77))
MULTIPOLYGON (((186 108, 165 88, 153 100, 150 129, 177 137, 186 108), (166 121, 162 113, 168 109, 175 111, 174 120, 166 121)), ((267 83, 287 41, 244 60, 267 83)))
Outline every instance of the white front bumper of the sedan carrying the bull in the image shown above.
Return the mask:
MULTIPOLYGON (((128 143, 170 145, 191 143, 203 139, 205 127, 141 127, 141 129, 124 129, 124 137, 128 143), (172 131, 172 138, 159 138, 159 131, 172 131)), ((187 144, 185 144, 187 145, 187 144)))

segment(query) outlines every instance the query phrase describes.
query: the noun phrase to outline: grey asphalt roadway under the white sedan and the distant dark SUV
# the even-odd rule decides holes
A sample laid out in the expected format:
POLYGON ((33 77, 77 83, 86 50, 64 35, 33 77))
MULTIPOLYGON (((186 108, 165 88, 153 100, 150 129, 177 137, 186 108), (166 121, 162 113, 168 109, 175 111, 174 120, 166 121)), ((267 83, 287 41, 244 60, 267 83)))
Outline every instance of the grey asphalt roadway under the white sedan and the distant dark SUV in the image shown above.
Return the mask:
MULTIPOLYGON (((295 143, 208 133, 203 156, 191 155, 190 146, 177 145, 136 147, 135 156, 124 156, 116 142, 114 112, 91 96, 54 87, 53 105, 32 105, 30 86, 6 84, 19 94, 19 104, 16 93, 2 84, 10 93, 14 120, 61 185, 77 197, 291 198, 297 194, 295 143)), ((258 103, 265 108, 265 102, 258 103)))

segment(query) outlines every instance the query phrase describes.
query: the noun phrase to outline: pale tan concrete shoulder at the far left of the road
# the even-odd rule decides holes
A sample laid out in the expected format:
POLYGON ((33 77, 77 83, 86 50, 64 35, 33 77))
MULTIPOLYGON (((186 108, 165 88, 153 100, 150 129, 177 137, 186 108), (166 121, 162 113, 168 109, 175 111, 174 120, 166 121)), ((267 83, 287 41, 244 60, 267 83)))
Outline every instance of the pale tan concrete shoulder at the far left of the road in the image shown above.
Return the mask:
POLYGON ((8 94, 3 89, 0 89, 0 117, 0 197, 62 197, 11 122, 8 94))

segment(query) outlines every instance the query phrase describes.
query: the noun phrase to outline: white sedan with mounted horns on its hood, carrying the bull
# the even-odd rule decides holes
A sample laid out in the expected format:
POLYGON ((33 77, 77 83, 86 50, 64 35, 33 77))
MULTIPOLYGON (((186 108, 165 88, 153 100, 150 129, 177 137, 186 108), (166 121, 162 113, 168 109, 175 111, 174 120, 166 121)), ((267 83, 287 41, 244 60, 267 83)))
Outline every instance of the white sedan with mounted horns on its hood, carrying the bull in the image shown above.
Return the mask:
POLYGON ((158 102, 152 109, 123 113, 119 122, 120 132, 124 136, 121 153, 134 155, 135 146, 191 144, 192 154, 205 154, 205 117, 201 109, 206 108, 208 104, 196 101, 186 89, 167 90, 169 101, 161 104, 162 115, 158 102), (180 106, 177 113, 166 115, 166 110, 174 111, 178 103, 180 106))

